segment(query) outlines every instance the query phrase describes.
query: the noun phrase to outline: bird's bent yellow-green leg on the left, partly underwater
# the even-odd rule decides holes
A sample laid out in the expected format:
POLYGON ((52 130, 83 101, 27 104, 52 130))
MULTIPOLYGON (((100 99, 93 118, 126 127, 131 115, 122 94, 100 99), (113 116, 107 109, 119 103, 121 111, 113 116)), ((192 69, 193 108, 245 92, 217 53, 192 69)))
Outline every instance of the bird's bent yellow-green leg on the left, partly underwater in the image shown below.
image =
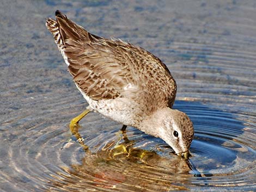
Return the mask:
POLYGON ((88 149, 88 146, 87 145, 84 145, 83 143, 83 138, 81 137, 80 133, 78 132, 78 128, 79 128, 79 125, 78 125, 78 122, 84 117, 86 116, 88 113, 90 112, 89 109, 86 109, 84 110, 83 113, 81 113, 80 115, 78 115, 77 117, 75 117, 74 119, 72 119, 70 121, 70 124, 69 124, 69 128, 70 128, 70 131, 73 135, 75 135, 78 143, 80 143, 84 150, 87 150, 88 149))

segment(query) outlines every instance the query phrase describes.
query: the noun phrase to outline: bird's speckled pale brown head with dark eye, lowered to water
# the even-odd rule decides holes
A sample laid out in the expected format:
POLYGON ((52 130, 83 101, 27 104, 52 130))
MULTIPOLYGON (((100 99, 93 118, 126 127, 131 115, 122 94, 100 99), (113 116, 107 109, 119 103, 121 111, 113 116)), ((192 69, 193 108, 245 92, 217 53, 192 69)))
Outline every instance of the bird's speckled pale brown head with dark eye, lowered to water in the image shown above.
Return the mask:
POLYGON ((148 120, 147 125, 147 130, 142 131, 163 139, 178 156, 188 158, 194 129, 185 113, 170 108, 160 109, 148 120))

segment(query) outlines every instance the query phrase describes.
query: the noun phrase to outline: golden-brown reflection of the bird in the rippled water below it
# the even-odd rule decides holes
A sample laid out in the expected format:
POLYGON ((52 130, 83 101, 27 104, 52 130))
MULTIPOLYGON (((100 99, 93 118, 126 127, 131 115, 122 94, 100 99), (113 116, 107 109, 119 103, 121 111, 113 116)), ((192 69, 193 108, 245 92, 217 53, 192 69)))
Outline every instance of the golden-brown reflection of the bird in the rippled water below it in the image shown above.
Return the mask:
POLYGON ((62 173, 58 182, 53 182, 54 186, 68 187, 69 191, 76 191, 77 188, 186 190, 183 184, 191 177, 201 176, 189 160, 183 160, 174 154, 164 157, 155 151, 138 148, 134 140, 127 138, 125 132, 119 133, 118 141, 109 141, 97 152, 87 149, 80 164, 63 168, 68 176, 62 173), (192 174, 188 174, 191 170, 192 174))

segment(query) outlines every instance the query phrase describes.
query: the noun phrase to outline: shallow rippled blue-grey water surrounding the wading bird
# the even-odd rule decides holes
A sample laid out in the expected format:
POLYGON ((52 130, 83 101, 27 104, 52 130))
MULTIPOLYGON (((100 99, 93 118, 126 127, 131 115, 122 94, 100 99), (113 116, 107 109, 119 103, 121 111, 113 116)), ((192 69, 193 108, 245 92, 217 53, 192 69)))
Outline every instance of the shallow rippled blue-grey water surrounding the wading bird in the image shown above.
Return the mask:
POLYGON ((254 1, 4 1, 0 9, 0 191, 254 191, 254 1), (46 17, 62 10, 90 32, 161 58, 191 117, 188 165, 161 139, 90 113, 46 17), (126 151, 125 151, 126 150, 126 151))

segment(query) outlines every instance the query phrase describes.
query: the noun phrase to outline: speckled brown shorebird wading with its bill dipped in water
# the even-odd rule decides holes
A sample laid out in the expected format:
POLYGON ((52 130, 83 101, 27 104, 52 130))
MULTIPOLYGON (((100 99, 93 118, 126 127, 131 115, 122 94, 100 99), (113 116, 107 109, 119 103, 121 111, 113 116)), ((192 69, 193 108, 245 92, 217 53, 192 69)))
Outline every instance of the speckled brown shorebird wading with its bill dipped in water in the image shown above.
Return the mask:
POLYGON ((177 86, 167 66, 139 46, 89 33, 59 10, 55 15, 56 20, 46 20, 46 27, 89 104, 70 121, 70 129, 94 111, 121 123, 121 131, 132 126, 161 138, 187 159, 193 123, 172 108, 177 86))

